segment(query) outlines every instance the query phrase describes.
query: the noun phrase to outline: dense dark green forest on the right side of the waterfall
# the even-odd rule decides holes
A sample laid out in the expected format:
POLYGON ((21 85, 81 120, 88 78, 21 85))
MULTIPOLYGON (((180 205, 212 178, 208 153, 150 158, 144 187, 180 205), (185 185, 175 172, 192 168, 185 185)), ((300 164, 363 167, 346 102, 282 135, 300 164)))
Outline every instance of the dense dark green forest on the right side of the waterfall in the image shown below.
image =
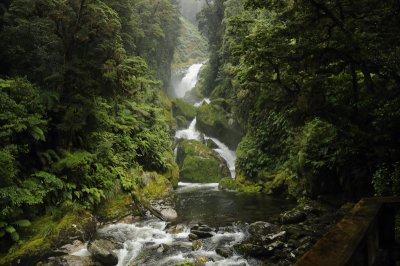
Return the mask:
POLYGON ((398 1, 208 1, 202 90, 246 135, 235 184, 296 198, 400 192, 398 1))

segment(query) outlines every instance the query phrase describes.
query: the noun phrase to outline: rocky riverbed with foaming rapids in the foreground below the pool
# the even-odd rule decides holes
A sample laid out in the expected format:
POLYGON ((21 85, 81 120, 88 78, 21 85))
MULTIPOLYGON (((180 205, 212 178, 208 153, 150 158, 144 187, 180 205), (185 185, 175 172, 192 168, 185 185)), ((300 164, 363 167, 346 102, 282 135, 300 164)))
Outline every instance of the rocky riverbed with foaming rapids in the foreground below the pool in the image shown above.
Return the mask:
POLYGON ((292 265, 351 207, 309 202, 265 221, 219 227, 125 217, 38 265, 292 265))

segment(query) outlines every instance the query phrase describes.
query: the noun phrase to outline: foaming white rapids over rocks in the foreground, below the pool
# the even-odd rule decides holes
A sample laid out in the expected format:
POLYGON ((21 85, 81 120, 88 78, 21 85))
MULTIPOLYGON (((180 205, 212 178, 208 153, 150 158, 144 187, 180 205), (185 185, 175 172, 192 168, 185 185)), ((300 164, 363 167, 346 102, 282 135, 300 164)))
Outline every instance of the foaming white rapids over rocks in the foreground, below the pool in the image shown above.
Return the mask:
POLYGON ((194 261, 196 257, 212 258, 213 262, 206 265, 249 265, 240 256, 233 255, 223 258, 215 252, 218 246, 232 247, 243 241, 245 234, 242 230, 231 227, 230 230, 220 229, 209 239, 204 239, 204 245, 197 251, 192 251, 192 244, 188 240, 190 230, 180 225, 182 231, 169 233, 167 223, 148 220, 136 224, 113 224, 98 231, 101 237, 122 242, 123 248, 115 250, 118 255, 118 266, 139 265, 176 265, 183 261, 194 261), (162 250, 163 245, 168 249, 162 250), (173 252, 171 252, 173 251, 173 252))

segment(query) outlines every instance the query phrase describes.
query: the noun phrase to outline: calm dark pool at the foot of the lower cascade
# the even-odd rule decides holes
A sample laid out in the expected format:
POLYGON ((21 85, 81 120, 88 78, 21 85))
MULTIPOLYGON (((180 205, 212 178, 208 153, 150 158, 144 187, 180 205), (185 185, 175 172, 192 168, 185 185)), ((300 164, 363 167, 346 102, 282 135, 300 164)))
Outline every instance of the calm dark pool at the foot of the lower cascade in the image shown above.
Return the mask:
POLYGON ((218 190, 218 184, 179 183, 175 192, 176 223, 224 226, 232 222, 265 221, 295 202, 258 193, 218 190))

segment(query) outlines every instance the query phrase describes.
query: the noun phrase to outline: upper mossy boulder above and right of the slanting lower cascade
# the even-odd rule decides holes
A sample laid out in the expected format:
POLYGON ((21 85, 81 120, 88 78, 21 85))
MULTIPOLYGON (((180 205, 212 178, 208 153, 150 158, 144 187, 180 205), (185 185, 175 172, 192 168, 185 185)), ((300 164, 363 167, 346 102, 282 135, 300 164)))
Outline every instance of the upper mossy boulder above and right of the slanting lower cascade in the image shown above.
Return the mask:
POLYGON ((231 149, 236 149, 242 138, 242 132, 231 113, 222 106, 202 104, 197 109, 197 128, 206 135, 218 138, 231 149))

